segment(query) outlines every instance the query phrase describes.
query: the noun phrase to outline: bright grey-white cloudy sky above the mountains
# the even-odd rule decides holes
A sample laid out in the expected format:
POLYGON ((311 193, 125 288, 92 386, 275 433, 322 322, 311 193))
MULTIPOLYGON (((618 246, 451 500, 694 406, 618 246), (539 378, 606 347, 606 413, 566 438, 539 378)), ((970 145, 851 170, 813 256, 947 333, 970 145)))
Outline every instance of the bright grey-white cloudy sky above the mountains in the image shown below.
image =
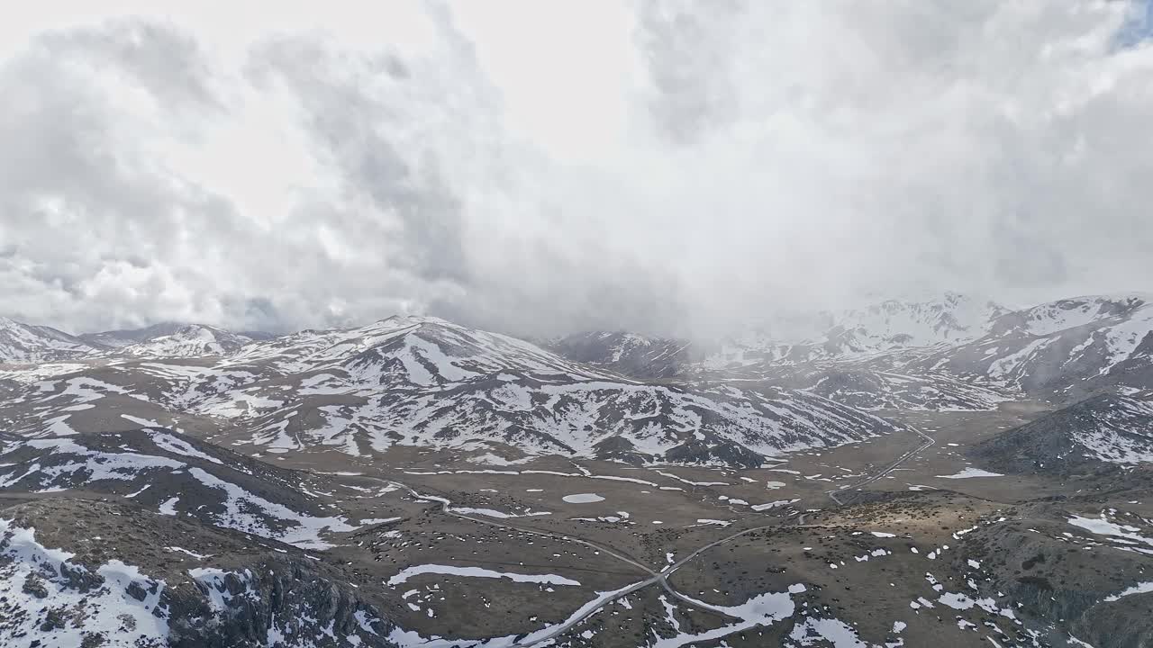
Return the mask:
POLYGON ((0 24, 0 315, 689 334, 1153 289, 1144 0, 100 5, 0 24))

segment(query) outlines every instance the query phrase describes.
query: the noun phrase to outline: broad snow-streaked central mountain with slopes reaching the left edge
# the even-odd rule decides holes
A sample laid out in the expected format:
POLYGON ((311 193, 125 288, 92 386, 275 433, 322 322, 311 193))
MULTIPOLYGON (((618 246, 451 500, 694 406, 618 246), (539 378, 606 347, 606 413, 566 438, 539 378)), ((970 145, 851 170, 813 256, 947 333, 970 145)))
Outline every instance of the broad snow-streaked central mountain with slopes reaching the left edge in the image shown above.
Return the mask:
POLYGON ((304 331, 214 362, 113 360, 9 372, 24 437, 163 423, 255 451, 499 443, 632 462, 759 465, 894 430, 806 392, 648 384, 431 317, 304 331))

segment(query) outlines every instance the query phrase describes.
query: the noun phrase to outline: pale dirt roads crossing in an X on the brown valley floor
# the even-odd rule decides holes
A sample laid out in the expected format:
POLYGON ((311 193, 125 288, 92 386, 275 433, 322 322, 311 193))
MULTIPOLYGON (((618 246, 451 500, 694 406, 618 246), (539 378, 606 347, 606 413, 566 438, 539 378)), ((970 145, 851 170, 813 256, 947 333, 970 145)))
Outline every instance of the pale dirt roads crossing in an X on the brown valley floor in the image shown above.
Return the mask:
MULTIPOLYGON (((909 430, 915 432, 921 438, 924 438, 925 443, 922 443, 918 447, 914 447, 913 450, 910 450, 909 452, 905 452, 904 454, 902 454, 900 457, 898 457, 896 460, 894 460, 891 464, 888 464, 887 466, 884 466, 880 470, 871 474, 869 476, 865 477, 864 480, 861 480, 861 481, 859 481, 857 483, 846 485, 846 487, 842 487, 839 489, 828 490, 828 491, 826 491, 826 495, 828 495, 829 498, 832 499, 832 502, 837 504, 837 506, 844 506, 847 503, 847 500, 850 500, 851 498, 843 499, 842 497, 838 497, 837 493, 843 493, 844 491, 851 490, 851 489, 852 490, 859 490, 862 487, 866 487, 866 485, 868 485, 868 484, 871 484, 871 483, 880 480, 881 477, 888 475, 894 469, 896 469, 897 467, 899 467, 905 461, 909 461, 910 459, 912 459, 913 457, 915 457, 918 453, 920 453, 925 449, 927 449, 930 445, 933 445, 934 443, 936 443, 933 437, 928 436, 924 431, 921 431, 921 430, 919 430, 919 429, 917 429, 917 428, 914 428, 912 425, 907 425, 907 428, 909 428, 909 430)), ((587 476, 591 476, 591 475, 587 475, 587 476)), ((382 483, 386 483, 386 484, 390 484, 390 485, 395 485, 395 487, 402 488, 402 489, 407 490, 409 495, 412 495, 414 498, 416 498, 419 500, 435 502, 435 503, 437 503, 439 505, 439 511, 442 513, 446 514, 446 515, 452 515, 452 517, 459 518, 461 520, 468 520, 470 522, 476 522, 476 523, 480 523, 480 525, 488 525, 488 526, 491 526, 491 527, 497 527, 497 528, 514 530, 514 532, 518 532, 518 533, 523 533, 523 534, 529 534, 529 535, 536 535, 536 536, 541 536, 541 537, 548 537, 548 538, 551 538, 551 540, 560 540, 560 541, 564 541, 564 542, 573 542, 573 543, 576 543, 576 544, 583 544, 585 547, 589 547, 589 548, 591 548, 591 549, 594 549, 596 551, 602 551, 605 555, 616 558, 617 560, 620 560, 620 562, 623 562, 623 563, 625 563, 627 565, 636 567, 636 568, 643 571, 645 573, 649 574, 649 578, 647 578, 645 580, 641 580, 641 581, 636 581, 636 582, 634 582, 632 585, 625 586, 621 589, 615 590, 611 596, 608 596, 608 597, 598 600, 596 605, 591 605, 591 606, 587 606, 587 608, 580 608, 571 617, 568 617, 567 619, 565 619, 560 624, 557 624, 556 626, 553 626, 552 630, 550 630, 547 634, 540 635, 540 636, 532 636, 532 635, 529 635, 529 636, 532 636, 530 640, 523 641, 523 642, 517 642, 515 643, 515 646, 522 646, 522 647, 538 646, 538 645, 544 643, 544 642, 547 642, 547 641, 549 641, 551 639, 555 639, 555 638, 557 638, 557 636, 559 636, 559 635, 568 632, 573 626, 580 624, 581 621, 583 621, 588 617, 597 613, 598 611, 601 611, 602 609, 604 609, 605 605, 609 605, 610 603, 613 603, 615 601, 617 601, 619 598, 628 596, 630 594, 639 590, 639 589, 643 589, 643 588, 646 588, 646 587, 648 587, 650 585, 656 585, 656 583, 658 583, 661 586, 661 588, 664 589, 665 592, 668 592, 671 596, 676 597, 678 601, 683 601, 683 602, 687 603, 688 605, 692 605, 694 608, 700 608, 700 609, 706 610, 708 612, 711 612, 714 615, 721 615, 721 616, 729 617, 729 618, 736 618, 736 617, 733 617, 732 615, 729 615, 728 612, 725 612, 723 609, 721 609, 718 606, 709 605, 708 603, 703 603, 701 601, 696 601, 694 598, 691 598, 689 596, 686 596, 686 595, 677 592, 677 589, 673 588, 672 585, 669 583, 668 578, 672 573, 675 573, 677 570, 679 570, 681 566, 684 566, 685 564, 689 563, 691 560, 693 560, 694 558, 696 558, 701 553, 708 551, 709 549, 713 549, 713 548, 716 548, 716 547, 721 547, 722 544, 726 544, 726 543, 732 542, 733 540, 736 540, 738 537, 741 537, 741 536, 745 536, 745 535, 748 535, 748 534, 752 534, 752 533, 756 533, 756 532, 761 532, 761 530, 767 530, 767 529, 773 529, 773 528, 779 528, 784 523, 784 522, 776 522, 776 523, 773 523, 773 525, 762 525, 762 526, 759 526, 759 527, 752 527, 752 528, 747 528, 747 529, 733 533, 731 535, 728 535, 725 537, 722 537, 719 540, 713 541, 713 542, 710 542, 708 544, 704 544, 704 545, 698 548, 696 550, 694 550, 688 556, 685 556, 680 560, 673 563, 672 565, 669 565, 669 566, 664 567, 661 571, 654 571, 649 566, 647 566, 647 565, 645 565, 645 564, 642 564, 642 563, 640 563, 638 560, 634 560, 633 558, 624 556, 623 552, 616 551, 616 550, 610 549, 608 547, 604 547, 602 544, 597 544, 596 542, 593 542, 590 540, 586 540, 586 538, 582 538, 582 537, 579 537, 579 536, 574 536, 572 534, 550 533, 550 532, 544 532, 544 530, 534 529, 534 528, 520 527, 520 526, 517 526, 517 525, 511 525, 508 522, 498 522, 496 520, 489 520, 489 519, 484 519, 484 518, 477 518, 477 517, 474 517, 474 515, 469 515, 469 514, 466 514, 466 513, 460 513, 458 511, 453 511, 453 508, 452 508, 452 502, 449 498, 446 498, 446 497, 443 497, 443 496, 439 496, 439 495, 424 495, 424 493, 421 493, 421 492, 416 491, 416 489, 409 487, 408 484, 405 484, 402 482, 398 482, 395 480, 386 480, 386 479, 374 477, 374 476, 369 476, 369 475, 359 475, 357 477, 359 479, 371 480, 371 481, 376 481, 376 482, 382 482, 382 483)), ((805 527, 805 526, 807 526, 807 525, 805 525, 805 517, 807 514, 808 513, 798 513, 798 514, 793 515, 791 518, 791 520, 794 522, 793 526, 794 527, 805 527)), ((477 641, 482 641, 482 640, 477 640, 477 641)))

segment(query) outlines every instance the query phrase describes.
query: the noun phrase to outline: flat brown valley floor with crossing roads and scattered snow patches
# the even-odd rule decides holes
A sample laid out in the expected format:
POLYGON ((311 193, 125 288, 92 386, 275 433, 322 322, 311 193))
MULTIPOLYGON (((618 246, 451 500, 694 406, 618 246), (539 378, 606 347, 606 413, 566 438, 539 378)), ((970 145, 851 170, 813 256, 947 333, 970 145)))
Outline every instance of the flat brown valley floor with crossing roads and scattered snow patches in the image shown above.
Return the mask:
MULTIPOLYGON (((907 430, 746 470, 556 457, 508 465, 404 446, 334 455, 327 469, 324 453, 266 459, 331 473, 334 502, 349 517, 400 518, 329 555, 356 566, 361 587, 387 602, 414 646, 434 636, 518 646, 807 646, 817 636, 835 646, 1016 645, 1011 638, 1048 641, 1052 628, 1008 602, 997 604, 1007 615, 973 604, 982 596, 967 572, 980 560, 949 545, 1030 500, 1073 495, 1057 480, 996 475, 965 458, 970 445, 1041 410, 883 413, 907 430), (377 495, 382 487, 393 490, 377 495), (952 581, 957 598, 934 603, 942 598, 934 579, 952 581), (773 593, 775 603, 759 601, 773 593)), ((1147 504, 1126 507, 1153 515, 1147 504)))

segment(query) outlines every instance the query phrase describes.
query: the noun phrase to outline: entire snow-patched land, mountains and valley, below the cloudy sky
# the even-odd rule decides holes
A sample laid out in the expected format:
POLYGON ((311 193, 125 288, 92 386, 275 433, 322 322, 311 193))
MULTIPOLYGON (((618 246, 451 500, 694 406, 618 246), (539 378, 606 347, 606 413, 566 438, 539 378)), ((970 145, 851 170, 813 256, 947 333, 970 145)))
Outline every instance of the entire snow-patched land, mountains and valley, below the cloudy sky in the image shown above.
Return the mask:
POLYGON ((1151 308, 2 321, 0 646, 1148 646, 1151 308))

